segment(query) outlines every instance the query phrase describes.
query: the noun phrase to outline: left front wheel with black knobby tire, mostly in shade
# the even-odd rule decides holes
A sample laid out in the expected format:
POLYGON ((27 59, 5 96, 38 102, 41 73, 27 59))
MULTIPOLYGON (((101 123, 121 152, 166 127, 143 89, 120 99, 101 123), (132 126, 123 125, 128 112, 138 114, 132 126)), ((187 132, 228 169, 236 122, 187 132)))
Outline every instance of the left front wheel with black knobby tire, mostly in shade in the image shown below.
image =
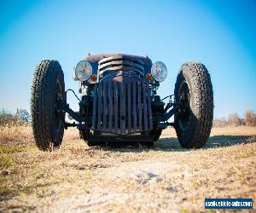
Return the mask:
POLYGON ((65 113, 59 109, 65 98, 64 74, 56 60, 42 60, 34 72, 32 83, 32 130, 37 147, 52 151, 60 147, 65 113))

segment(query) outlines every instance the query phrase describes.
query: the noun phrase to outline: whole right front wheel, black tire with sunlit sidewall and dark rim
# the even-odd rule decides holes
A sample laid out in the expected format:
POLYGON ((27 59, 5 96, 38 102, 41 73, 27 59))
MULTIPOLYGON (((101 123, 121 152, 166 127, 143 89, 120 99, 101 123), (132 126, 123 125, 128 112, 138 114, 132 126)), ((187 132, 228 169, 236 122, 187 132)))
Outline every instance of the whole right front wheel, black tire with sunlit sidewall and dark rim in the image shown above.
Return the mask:
POLYGON ((201 148, 212 129, 213 91, 206 66, 197 62, 183 64, 177 75, 175 100, 181 109, 174 116, 177 139, 184 148, 201 148))

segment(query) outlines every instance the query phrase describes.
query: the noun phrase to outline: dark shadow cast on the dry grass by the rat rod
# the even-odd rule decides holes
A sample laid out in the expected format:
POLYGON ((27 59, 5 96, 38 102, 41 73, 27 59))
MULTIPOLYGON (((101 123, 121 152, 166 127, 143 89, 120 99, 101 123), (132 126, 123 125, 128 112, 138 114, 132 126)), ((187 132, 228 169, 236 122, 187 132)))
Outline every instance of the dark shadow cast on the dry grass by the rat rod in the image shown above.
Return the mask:
MULTIPOLYGON (((208 148, 218 148, 218 147, 230 147, 238 144, 246 144, 256 142, 256 136, 247 135, 215 135, 210 136, 205 147, 201 149, 208 148)), ((122 153, 132 152, 141 153, 145 151, 165 151, 165 152, 189 152, 190 149, 185 149, 180 146, 176 137, 166 137, 161 138, 159 141, 154 142, 154 147, 144 147, 140 144, 119 146, 112 144, 111 146, 105 147, 108 150, 118 151, 122 153)))

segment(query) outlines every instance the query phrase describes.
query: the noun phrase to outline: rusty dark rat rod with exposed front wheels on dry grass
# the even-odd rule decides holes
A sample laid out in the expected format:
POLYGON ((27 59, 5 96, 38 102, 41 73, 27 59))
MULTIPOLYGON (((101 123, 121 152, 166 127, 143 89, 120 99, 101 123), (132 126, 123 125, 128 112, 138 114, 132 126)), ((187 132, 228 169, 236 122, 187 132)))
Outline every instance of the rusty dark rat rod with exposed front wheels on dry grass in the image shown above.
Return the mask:
MULTIPOLYGON (((213 92, 206 66, 187 62, 177 74, 174 95, 160 98, 163 62, 148 56, 88 55, 75 67, 79 112, 67 104, 64 74, 56 60, 42 60, 32 83, 32 129, 40 150, 61 146, 64 129, 77 127, 89 146, 125 141, 153 146, 173 126, 182 147, 204 147, 212 129, 213 92), (165 103, 163 100, 168 98, 165 103), (76 122, 66 121, 68 113, 76 122), (168 122, 174 116, 174 121, 168 122)), ((73 92, 74 93, 74 92, 73 92)), ((75 93, 74 93, 75 95, 75 93)))

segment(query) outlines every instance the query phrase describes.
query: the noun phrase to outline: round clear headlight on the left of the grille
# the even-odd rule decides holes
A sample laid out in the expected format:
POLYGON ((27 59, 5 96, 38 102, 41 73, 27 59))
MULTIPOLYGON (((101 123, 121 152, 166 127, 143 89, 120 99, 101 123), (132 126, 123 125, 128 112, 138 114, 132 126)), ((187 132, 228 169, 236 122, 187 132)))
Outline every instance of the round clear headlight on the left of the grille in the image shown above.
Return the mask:
POLYGON ((75 78, 79 81, 86 81, 92 74, 92 67, 87 60, 81 60, 75 68, 75 78))

